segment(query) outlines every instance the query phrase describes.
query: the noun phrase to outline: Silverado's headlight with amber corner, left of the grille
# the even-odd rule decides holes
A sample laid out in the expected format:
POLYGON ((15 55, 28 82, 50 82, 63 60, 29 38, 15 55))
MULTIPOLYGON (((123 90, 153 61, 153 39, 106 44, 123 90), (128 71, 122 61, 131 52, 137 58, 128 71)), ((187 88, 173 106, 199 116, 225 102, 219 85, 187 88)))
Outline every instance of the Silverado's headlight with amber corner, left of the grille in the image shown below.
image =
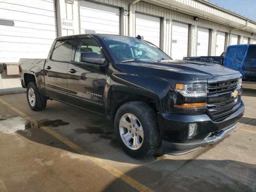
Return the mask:
POLYGON ((176 84, 175 91, 186 97, 207 96, 207 84, 176 84))

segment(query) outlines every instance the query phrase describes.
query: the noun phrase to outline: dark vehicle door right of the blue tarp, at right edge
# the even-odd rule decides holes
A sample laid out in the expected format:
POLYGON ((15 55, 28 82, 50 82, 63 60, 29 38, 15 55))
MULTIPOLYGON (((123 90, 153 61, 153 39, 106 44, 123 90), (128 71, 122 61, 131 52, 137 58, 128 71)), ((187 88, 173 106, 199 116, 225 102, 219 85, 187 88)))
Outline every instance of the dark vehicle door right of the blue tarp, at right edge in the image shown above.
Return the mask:
POLYGON ((248 48, 243 70, 247 80, 256 80, 256 46, 248 48))

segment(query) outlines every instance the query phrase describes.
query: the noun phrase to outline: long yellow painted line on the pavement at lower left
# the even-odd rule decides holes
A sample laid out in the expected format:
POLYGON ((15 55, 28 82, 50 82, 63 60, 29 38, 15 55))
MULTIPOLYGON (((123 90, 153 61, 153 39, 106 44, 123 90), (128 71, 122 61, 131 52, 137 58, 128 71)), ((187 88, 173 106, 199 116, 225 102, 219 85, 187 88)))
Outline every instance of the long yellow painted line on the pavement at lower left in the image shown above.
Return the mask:
POLYGON ((0 99, 0 102, 2 104, 6 105, 8 108, 14 110, 16 113, 18 113, 20 116, 22 116, 23 118, 25 118, 29 122, 37 124, 41 129, 46 131, 48 134, 54 136, 55 138, 57 138, 58 140, 60 140, 61 142, 63 142, 67 146, 69 146, 70 148, 74 149, 79 154, 85 155, 86 158, 88 158, 89 160, 91 160, 92 162, 97 164, 98 166, 102 167, 106 171, 110 172, 111 174, 113 174, 114 176, 119 178, 120 180, 126 182, 127 184, 129 184, 130 186, 135 188, 136 190, 141 191, 141 192, 144 192, 144 191, 152 192, 152 190, 150 188, 144 186, 140 182, 136 181, 134 178, 131 178, 130 176, 124 174, 123 172, 121 172, 120 170, 114 168, 113 166, 110 166, 110 165, 106 164, 102 159, 96 158, 96 157, 92 157, 92 156, 88 156, 89 153, 84 151, 80 146, 74 144, 70 140, 68 140, 68 139, 64 138, 63 136, 59 135, 58 133, 54 132, 52 129, 44 126, 42 123, 37 122, 33 118, 27 116, 25 113, 23 113, 22 111, 18 110, 14 106, 8 104, 4 100, 0 99))

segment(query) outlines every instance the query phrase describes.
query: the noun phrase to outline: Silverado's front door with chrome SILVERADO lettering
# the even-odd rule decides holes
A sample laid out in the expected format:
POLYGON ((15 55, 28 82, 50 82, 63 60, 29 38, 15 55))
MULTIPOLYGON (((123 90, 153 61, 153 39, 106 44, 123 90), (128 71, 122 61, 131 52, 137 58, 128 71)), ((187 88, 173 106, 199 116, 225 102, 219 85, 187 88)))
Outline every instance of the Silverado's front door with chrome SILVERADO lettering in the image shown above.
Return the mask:
POLYGON ((68 65, 68 97, 73 105, 104 114, 104 89, 107 67, 80 61, 82 52, 104 54, 92 38, 78 38, 74 61, 68 65))

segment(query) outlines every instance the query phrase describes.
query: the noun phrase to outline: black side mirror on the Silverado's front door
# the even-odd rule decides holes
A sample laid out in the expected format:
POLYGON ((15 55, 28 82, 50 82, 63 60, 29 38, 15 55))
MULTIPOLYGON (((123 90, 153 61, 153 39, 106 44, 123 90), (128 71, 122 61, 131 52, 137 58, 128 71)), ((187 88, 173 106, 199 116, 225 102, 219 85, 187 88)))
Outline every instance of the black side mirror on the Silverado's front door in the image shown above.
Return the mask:
POLYGON ((85 63, 101 65, 101 66, 104 66, 104 64, 106 64, 106 59, 100 58, 99 55, 95 52, 81 53, 80 61, 85 63))

